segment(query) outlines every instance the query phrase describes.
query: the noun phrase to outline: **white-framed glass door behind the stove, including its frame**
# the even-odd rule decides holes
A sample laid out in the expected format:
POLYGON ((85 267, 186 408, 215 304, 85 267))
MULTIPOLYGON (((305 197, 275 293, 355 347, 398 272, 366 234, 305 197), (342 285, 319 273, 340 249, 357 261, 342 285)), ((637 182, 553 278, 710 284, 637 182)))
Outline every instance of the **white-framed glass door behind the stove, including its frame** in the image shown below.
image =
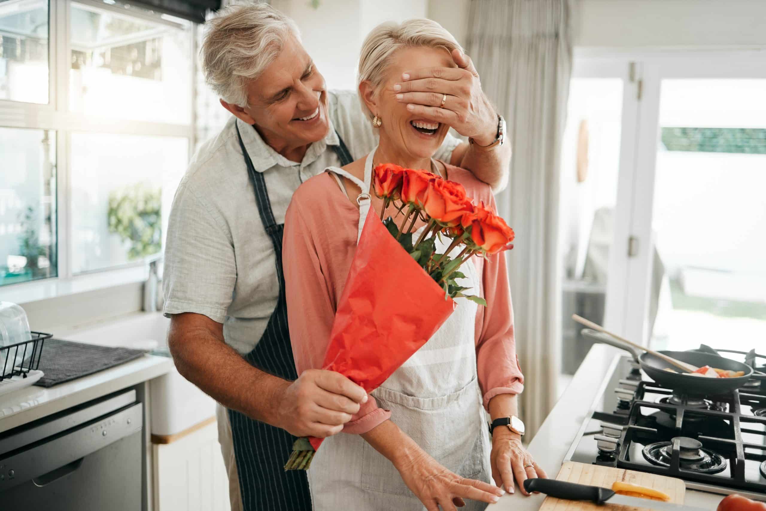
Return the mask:
POLYGON ((762 58, 645 61, 637 133, 653 140, 637 146, 630 231, 648 235, 649 254, 624 292, 627 328, 653 349, 766 346, 762 58))

